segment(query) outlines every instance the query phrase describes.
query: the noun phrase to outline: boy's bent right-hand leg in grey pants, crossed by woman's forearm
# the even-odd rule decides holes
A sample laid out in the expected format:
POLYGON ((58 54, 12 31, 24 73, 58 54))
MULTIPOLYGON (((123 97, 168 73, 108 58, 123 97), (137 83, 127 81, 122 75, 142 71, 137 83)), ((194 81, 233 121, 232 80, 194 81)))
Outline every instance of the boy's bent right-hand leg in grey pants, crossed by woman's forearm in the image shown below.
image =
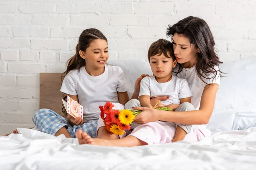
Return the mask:
MULTIPOLYGON (((194 110, 195 110, 195 107, 191 103, 184 102, 175 110, 175 112, 194 111, 194 110)), ((178 123, 176 125, 177 125, 177 128, 176 128, 176 133, 175 133, 173 142, 183 140, 186 134, 191 131, 191 127, 192 127, 192 125, 183 125, 178 123)))

